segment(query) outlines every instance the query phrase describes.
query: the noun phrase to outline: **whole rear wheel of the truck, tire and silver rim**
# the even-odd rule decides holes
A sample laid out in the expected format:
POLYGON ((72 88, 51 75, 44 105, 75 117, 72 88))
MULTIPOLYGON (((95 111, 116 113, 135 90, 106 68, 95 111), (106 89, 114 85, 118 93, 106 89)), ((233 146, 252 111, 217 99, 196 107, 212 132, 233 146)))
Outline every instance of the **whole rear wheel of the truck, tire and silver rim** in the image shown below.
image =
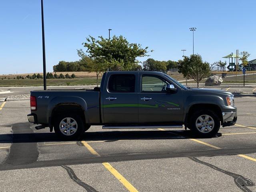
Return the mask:
POLYGON ((76 139, 82 134, 84 123, 77 114, 63 113, 54 122, 55 133, 64 140, 76 139))

